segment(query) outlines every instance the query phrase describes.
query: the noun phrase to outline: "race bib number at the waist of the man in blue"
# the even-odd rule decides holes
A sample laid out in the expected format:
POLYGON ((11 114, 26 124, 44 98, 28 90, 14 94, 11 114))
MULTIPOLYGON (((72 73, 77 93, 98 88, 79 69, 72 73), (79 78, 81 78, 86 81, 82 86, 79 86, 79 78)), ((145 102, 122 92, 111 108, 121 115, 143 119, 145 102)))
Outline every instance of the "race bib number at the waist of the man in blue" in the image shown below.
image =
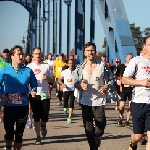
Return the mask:
POLYGON ((22 104, 22 95, 20 94, 9 94, 9 101, 10 104, 22 104))

